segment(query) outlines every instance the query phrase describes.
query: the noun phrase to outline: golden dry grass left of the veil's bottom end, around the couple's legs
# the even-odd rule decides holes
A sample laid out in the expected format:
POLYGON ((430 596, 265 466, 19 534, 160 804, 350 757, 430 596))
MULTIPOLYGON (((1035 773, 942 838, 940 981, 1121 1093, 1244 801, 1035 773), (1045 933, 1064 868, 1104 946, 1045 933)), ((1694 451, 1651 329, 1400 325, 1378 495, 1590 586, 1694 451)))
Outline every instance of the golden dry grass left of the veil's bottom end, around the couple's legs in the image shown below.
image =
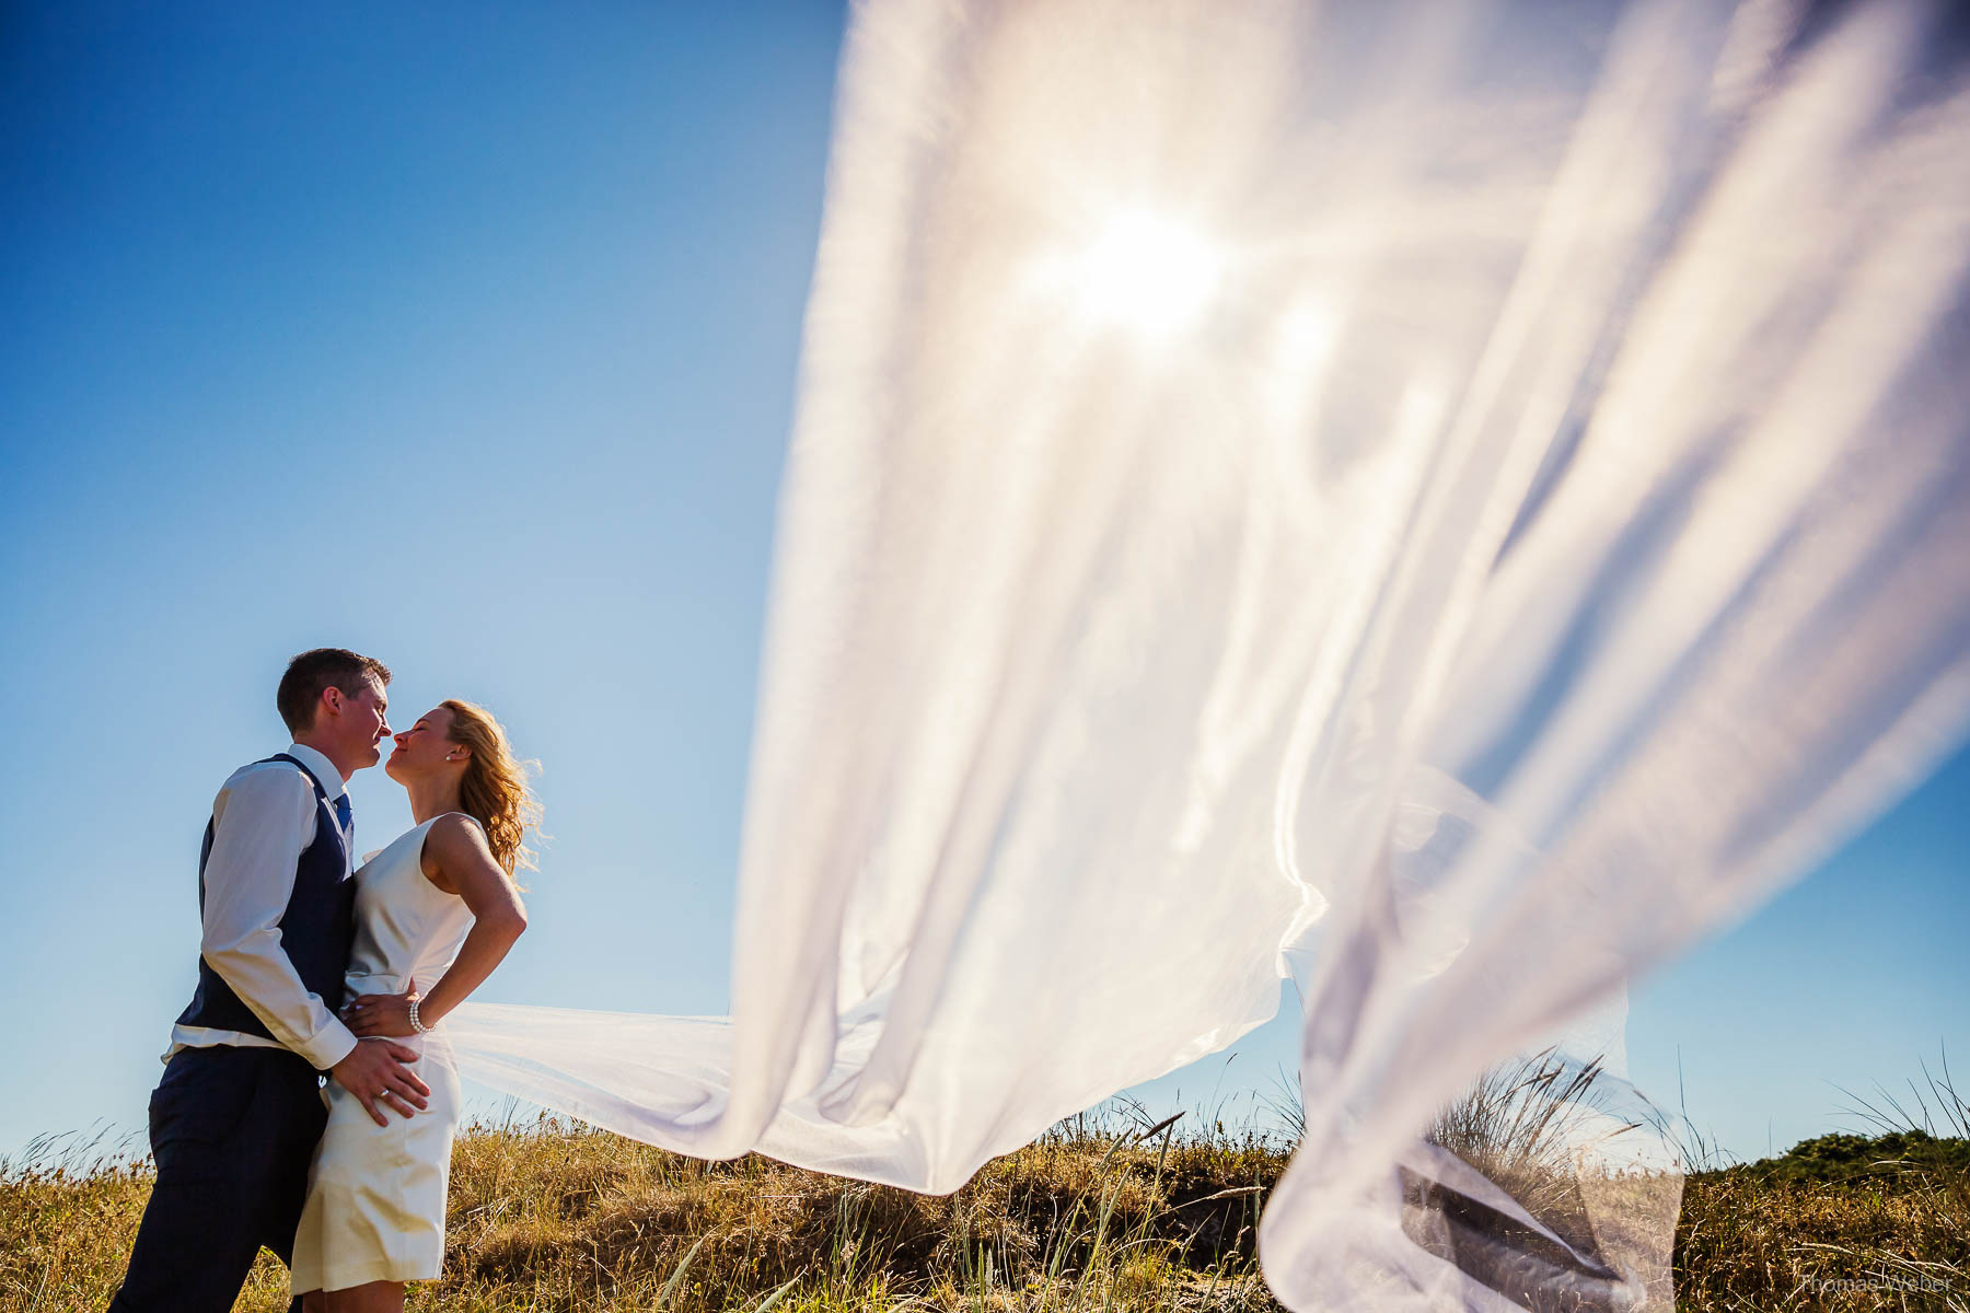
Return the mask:
MULTIPOLYGON (((481 1122, 453 1152, 445 1280, 410 1307, 1277 1309, 1253 1232, 1284 1161, 1259 1136, 1080 1122, 934 1197, 481 1122)), ((114 1154, 45 1146, 0 1165, 0 1313, 100 1309, 146 1193, 146 1163, 114 1154)), ((272 1256, 238 1307, 286 1307, 272 1256)))

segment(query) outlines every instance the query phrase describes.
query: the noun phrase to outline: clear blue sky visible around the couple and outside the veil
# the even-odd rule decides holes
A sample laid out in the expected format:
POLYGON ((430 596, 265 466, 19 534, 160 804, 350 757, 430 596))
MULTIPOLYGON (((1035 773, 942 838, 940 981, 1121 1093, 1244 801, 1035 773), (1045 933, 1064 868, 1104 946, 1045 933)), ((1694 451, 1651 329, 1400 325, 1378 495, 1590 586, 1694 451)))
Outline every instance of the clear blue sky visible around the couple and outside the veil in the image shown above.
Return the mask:
MULTIPOLYGON (((219 782, 288 656, 544 764, 483 998, 725 1010, 831 4, 26 4, 0 24, 0 1154, 142 1126, 219 782)), ((359 846, 410 823, 353 783, 359 846)), ((1970 1067, 1970 754, 1637 986, 1637 1081, 1741 1156, 1970 1067)), ((1145 1091, 1243 1116, 1288 1014, 1145 1091)))

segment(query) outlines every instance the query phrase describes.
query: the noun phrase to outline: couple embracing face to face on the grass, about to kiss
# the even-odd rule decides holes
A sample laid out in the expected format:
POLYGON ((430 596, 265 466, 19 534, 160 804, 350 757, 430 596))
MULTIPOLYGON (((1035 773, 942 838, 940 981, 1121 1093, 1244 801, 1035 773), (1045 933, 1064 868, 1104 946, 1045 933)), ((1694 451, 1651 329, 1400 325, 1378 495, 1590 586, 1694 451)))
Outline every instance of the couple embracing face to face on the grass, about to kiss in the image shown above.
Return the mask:
POLYGON ((199 852, 199 978, 150 1098, 158 1181, 112 1313, 223 1313, 260 1248, 292 1311, 400 1313, 439 1276, 459 1077, 441 1020, 526 929, 538 825, 500 724, 449 699, 398 734, 390 669, 290 661, 294 742, 227 778, 199 852), (361 864, 347 783, 416 825, 361 864), (420 992, 422 990, 422 992, 420 992))

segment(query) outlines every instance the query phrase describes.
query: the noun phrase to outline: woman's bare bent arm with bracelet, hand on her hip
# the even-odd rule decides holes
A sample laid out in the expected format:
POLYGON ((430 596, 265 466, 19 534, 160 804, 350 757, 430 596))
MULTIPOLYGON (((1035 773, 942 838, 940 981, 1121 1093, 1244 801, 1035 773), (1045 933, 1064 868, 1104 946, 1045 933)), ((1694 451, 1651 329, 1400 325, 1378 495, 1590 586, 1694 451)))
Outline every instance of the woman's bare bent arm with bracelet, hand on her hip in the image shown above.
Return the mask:
MULTIPOLYGON (((418 1002, 418 1020, 437 1026, 439 1018, 465 1002, 512 949, 526 929, 526 907, 512 878, 492 860, 485 833, 465 817, 441 817, 424 837, 424 874, 447 894, 457 894, 473 911, 473 929, 459 945, 459 957, 443 978, 418 1002)), ((410 1000, 404 994, 362 994, 349 1006, 349 1030, 357 1035, 410 1035, 410 1000)))

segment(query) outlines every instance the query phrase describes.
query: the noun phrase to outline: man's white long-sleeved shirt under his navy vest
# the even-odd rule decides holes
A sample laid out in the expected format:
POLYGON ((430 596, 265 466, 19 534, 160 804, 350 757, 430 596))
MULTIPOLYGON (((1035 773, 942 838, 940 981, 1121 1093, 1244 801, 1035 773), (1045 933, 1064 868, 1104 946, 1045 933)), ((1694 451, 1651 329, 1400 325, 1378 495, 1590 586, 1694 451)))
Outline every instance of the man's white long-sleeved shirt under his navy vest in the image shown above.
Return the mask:
POLYGON ((294 896, 301 850, 315 841, 323 809, 329 823, 337 823, 335 799, 349 789, 335 764, 313 748, 288 744, 286 752, 315 772, 327 799, 317 801, 315 785, 286 762, 254 762, 227 778, 213 799, 213 850, 205 858, 205 929, 199 937, 205 963, 266 1022, 274 1039, 209 1026, 173 1026, 164 1061, 179 1049, 236 1043, 288 1047, 327 1071, 357 1047, 357 1037, 321 1002, 321 994, 307 992, 280 947, 280 917, 294 896))

